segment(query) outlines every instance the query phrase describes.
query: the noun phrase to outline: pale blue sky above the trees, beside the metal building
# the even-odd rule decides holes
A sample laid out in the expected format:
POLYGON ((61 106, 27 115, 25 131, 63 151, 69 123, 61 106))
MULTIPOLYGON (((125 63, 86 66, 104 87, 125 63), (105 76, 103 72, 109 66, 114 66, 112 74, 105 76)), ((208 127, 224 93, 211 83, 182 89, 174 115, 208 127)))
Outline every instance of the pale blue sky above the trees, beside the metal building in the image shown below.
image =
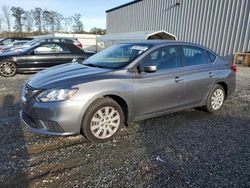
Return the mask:
POLYGON ((89 31, 93 27, 106 28, 105 11, 130 1, 132 0, 0 0, 0 7, 20 6, 24 10, 41 7, 57 11, 65 17, 80 13, 84 29, 89 31))

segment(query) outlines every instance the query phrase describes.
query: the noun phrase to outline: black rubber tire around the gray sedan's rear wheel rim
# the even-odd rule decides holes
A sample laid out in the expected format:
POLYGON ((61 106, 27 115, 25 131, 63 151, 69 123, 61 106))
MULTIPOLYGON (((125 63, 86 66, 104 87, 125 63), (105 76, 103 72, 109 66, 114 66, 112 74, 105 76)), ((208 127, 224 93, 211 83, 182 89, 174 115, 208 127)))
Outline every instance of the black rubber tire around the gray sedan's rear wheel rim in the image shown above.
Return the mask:
POLYGON ((212 92, 209 94, 209 96, 207 98, 206 105, 204 106, 205 111, 210 112, 210 113, 215 113, 215 112, 220 111, 223 104, 224 104, 225 97, 226 97, 225 89, 221 85, 216 84, 214 86, 214 88, 212 89, 212 92), (214 108, 213 105, 212 105, 212 97, 215 94, 215 92, 218 91, 218 90, 222 91, 222 93, 223 93, 222 104, 218 108, 214 108))

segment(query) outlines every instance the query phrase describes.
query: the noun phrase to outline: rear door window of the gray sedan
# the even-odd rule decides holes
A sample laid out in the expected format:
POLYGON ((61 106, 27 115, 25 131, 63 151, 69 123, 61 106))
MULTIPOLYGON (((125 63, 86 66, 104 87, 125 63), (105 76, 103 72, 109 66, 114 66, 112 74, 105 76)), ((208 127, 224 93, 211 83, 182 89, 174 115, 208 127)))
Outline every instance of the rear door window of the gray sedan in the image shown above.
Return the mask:
POLYGON ((183 49, 183 66, 195 66, 209 63, 209 57, 205 50, 193 46, 184 46, 183 49))

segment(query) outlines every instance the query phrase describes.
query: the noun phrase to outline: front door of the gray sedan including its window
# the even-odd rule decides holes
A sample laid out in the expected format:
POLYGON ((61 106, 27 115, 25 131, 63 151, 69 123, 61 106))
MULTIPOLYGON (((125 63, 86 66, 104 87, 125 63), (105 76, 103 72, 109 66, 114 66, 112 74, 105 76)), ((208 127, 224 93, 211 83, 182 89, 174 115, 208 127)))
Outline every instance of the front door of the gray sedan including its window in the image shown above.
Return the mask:
POLYGON ((134 113, 142 118, 183 105, 185 82, 176 46, 166 46, 147 55, 139 67, 157 66, 154 73, 134 74, 134 113))

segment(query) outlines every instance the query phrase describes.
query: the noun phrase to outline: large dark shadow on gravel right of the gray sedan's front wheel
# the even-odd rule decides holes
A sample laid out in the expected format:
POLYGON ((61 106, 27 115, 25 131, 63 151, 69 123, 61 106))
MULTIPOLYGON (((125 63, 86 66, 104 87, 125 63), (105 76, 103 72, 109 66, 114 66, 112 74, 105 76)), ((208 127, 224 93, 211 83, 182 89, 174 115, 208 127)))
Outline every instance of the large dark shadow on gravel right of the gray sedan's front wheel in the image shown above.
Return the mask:
POLYGON ((250 117, 190 110, 138 122, 145 187, 250 185, 250 117))

